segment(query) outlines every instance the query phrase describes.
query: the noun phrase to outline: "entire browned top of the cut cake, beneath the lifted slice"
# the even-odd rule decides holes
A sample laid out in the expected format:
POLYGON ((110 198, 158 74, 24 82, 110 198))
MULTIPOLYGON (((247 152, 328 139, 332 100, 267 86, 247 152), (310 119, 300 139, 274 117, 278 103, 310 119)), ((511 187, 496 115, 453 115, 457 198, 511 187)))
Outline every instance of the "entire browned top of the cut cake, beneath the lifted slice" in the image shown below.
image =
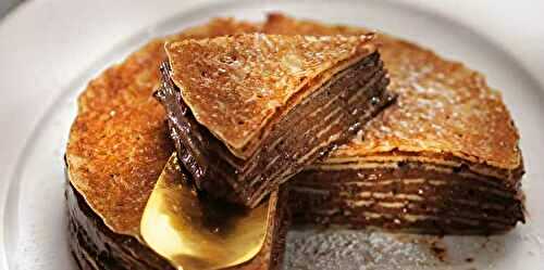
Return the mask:
MULTIPOLYGON (((213 20, 169 39, 178 41, 252 31, 286 35, 368 33, 363 28, 327 26, 272 14, 262 26, 233 20, 213 20)), ((520 166, 521 153, 517 147, 517 130, 511 125, 511 118, 499 95, 489 89, 481 75, 409 42, 386 36, 380 36, 379 39, 383 43, 382 59, 392 77, 390 89, 400 94, 398 104, 372 120, 368 134, 360 134, 355 142, 334 152, 329 158, 331 162, 335 157, 376 155, 403 147, 412 151, 436 151, 440 145, 444 147, 442 154, 450 154, 454 151, 459 155, 467 153, 462 154, 462 157, 472 156, 480 163, 496 164, 504 168, 520 166), (429 69, 429 66, 432 69, 429 69), (420 72, 415 73, 416 70, 420 72), (431 72, 438 72, 441 75, 431 72), (412 73, 416 75, 410 77, 412 73), (436 82, 433 82, 435 80, 436 82), (440 88, 434 83, 438 83, 440 88), (447 95, 440 95, 438 90, 443 89, 446 89, 447 95), (463 101, 460 104, 468 104, 465 108, 470 110, 456 110, 447 115, 446 111, 442 112, 442 108, 431 104, 417 104, 415 111, 405 107, 410 102, 417 103, 420 100, 418 97, 423 98, 423 103, 431 102, 431 98, 436 99, 446 105, 445 107, 454 105, 444 103, 442 99, 460 97, 462 99, 455 101, 463 101), (479 113, 467 114, 477 106, 469 102, 470 99, 483 99, 481 105, 475 108, 479 113), (431 115, 421 112, 423 108, 438 112, 437 117, 442 118, 433 120, 419 117, 431 115), (478 120, 478 116, 482 116, 482 119, 478 120), (398 118, 405 120, 395 124, 394 120, 398 118), (479 125, 470 123, 469 126, 462 126, 461 124, 468 123, 457 119, 477 120, 474 124, 479 125), (483 119, 485 125, 482 124, 483 119), (441 123, 442 120, 446 123, 441 123), (452 138, 445 138, 444 133, 437 137, 416 128, 403 128, 404 125, 417 127, 420 123, 422 131, 436 127, 452 129, 447 131, 449 134, 453 130, 470 130, 459 133, 461 137, 454 134, 452 138), (384 129, 380 128, 382 126, 384 129), (409 138, 415 138, 416 141, 410 142, 409 138), (434 143, 429 143, 432 141, 434 143)), ((89 82, 78 99, 78 114, 72 126, 66 149, 71 183, 112 231, 134 236, 139 235, 139 221, 147 200, 173 152, 164 125, 163 108, 151 97, 159 82, 158 66, 165 57, 163 46, 164 39, 152 40, 123 63, 106 69, 89 82)))

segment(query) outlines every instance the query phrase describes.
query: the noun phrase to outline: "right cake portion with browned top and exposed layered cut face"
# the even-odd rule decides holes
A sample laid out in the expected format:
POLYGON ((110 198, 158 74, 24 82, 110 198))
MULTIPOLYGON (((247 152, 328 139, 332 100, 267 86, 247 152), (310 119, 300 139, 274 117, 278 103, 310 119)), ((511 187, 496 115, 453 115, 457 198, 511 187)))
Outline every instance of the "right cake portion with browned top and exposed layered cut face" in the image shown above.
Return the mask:
MULTIPOLYGON (((272 14, 263 31, 360 35, 272 14)), ((397 102, 293 180, 301 223, 490 234, 524 222, 519 136, 483 75, 380 35, 397 102)))

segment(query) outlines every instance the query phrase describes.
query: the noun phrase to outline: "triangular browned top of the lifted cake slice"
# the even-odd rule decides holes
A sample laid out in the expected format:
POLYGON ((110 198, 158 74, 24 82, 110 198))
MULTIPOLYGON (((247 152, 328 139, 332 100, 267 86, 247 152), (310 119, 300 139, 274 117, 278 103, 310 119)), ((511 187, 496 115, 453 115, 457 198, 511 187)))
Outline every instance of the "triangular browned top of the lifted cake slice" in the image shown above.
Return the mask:
POLYGON ((172 41, 165 50, 195 118, 245 159, 251 151, 239 150, 292 97, 309 94, 312 80, 339 63, 374 52, 372 37, 245 34, 172 41))

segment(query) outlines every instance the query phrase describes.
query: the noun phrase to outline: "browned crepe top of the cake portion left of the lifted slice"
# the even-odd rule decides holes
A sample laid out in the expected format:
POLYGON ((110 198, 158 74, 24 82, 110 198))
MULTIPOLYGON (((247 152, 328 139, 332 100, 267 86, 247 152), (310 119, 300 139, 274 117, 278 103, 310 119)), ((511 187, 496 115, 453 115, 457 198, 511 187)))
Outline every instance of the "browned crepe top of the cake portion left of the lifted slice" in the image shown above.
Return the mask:
MULTIPOLYGON (((169 38, 257 29, 254 24, 221 18, 169 38)), ((112 231, 136 237, 147 200, 174 151, 163 107, 152 98, 165 57, 164 39, 151 40, 92 79, 79 95, 66 149, 74 188, 112 231)))

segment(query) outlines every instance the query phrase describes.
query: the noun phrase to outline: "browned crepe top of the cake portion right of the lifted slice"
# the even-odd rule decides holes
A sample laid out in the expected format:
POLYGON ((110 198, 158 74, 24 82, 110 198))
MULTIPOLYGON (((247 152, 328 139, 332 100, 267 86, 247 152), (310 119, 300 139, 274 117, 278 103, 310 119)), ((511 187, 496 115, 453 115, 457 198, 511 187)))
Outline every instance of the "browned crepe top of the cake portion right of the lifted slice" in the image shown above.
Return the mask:
MULTIPOLYGON (((330 26, 271 14, 263 31, 284 35, 360 35, 367 29, 330 26)), ((430 50, 379 36, 382 60, 397 103, 371 120, 364 133, 332 152, 324 163, 385 152, 454 155, 514 170, 522 166, 519 136, 500 94, 485 77, 430 50)))

